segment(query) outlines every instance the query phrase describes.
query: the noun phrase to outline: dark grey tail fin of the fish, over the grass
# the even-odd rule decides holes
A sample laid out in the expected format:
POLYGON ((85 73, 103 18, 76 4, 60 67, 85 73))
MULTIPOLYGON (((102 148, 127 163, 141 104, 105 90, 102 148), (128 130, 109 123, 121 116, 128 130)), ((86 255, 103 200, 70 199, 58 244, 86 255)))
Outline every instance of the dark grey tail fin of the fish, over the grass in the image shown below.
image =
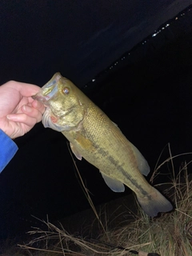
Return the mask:
POLYGON ((142 206, 142 210, 150 217, 157 216, 158 212, 168 212, 173 209, 171 203, 155 188, 151 194, 138 197, 138 202, 142 206))

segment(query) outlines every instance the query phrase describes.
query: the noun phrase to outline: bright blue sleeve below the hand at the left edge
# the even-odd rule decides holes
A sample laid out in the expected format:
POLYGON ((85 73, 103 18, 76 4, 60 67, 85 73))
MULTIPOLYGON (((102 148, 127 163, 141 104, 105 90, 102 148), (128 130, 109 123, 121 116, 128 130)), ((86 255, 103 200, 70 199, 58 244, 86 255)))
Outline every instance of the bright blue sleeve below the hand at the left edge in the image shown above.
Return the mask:
POLYGON ((18 146, 0 129, 0 173, 14 157, 18 146))

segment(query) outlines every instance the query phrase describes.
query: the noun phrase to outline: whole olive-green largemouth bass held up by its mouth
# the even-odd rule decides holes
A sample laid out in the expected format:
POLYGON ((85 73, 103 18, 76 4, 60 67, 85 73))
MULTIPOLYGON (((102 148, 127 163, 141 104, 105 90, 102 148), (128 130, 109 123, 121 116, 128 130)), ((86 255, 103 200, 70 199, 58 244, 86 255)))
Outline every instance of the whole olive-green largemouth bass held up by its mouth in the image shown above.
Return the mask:
POLYGON ((111 190, 124 192, 128 186, 150 217, 173 209, 144 178, 150 166, 139 150, 73 82, 56 73, 33 98, 46 106, 43 126, 61 132, 75 157, 97 167, 111 190))

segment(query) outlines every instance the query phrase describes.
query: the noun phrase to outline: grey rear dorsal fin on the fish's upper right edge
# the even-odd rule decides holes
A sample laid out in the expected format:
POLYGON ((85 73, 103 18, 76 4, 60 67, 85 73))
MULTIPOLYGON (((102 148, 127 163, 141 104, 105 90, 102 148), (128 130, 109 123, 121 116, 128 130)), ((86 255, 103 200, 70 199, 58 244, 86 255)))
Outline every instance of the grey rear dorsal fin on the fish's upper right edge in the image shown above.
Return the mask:
POLYGON ((136 146, 134 146, 132 143, 130 143, 130 146, 134 151, 135 158, 137 159, 138 170, 140 170, 143 175, 147 176, 150 172, 150 166, 148 165, 148 162, 146 162, 146 159, 142 156, 136 146))

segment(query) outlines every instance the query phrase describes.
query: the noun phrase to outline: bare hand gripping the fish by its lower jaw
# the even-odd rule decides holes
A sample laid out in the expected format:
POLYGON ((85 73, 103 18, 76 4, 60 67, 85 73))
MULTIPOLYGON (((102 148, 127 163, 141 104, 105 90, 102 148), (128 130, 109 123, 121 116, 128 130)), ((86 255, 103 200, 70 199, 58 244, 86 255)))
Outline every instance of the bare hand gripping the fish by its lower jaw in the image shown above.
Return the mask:
POLYGON ((15 81, 0 86, 0 129, 10 138, 26 134, 42 120, 45 107, 30 97, 39 89, 38 86, 15 81))

